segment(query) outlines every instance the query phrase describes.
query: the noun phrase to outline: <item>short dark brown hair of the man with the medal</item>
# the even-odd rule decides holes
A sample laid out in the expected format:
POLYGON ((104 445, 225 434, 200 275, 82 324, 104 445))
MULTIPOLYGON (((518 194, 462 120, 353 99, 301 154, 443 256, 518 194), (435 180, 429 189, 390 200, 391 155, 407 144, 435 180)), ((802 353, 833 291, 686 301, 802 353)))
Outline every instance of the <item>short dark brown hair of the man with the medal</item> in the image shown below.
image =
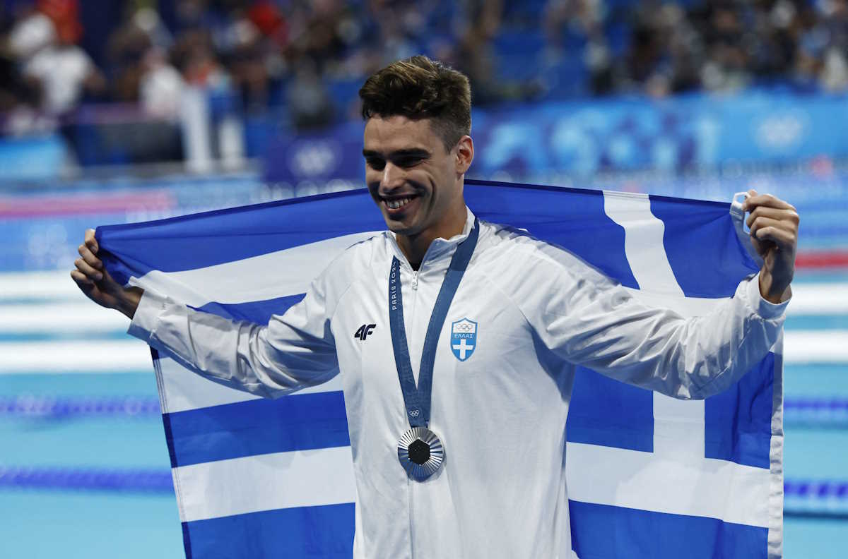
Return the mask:
POLYGON ((426 56, 389 64, 360 88, 362 118, 401 115, 430 119, 444 147, 471 134, 471 86, 466 75, 426 56))

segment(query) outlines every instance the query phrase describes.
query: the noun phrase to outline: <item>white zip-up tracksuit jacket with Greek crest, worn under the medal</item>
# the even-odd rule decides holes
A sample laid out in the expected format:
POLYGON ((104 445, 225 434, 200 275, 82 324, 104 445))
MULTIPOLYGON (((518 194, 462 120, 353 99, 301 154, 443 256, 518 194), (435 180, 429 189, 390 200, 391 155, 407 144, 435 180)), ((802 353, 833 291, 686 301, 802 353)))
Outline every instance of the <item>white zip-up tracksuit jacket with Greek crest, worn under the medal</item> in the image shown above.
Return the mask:
POLYGON ((304 300, 267 326, 232 323, 148 291, 130 333, 200 374, 263 396, 343 375, 356 479, 354 557, 522 559, 572 556, 566 416, 575 366, 679 398, 739 379, 778 339, 786 303, 757 278, 703 318, 636 302, 568 252, 480 222, 480 237, 438 339, 430 428, 445 462, 407 478, 397 443, 409 425, 394 365, 388 271, 401 262, 413 371, 455 246, 432 242, 417 272, 392 233, 351 246, 304 300), (477 322, 471 357, 451 351, 451 323, 477 322), (354 333, 376 324, 365 340, 354 333))

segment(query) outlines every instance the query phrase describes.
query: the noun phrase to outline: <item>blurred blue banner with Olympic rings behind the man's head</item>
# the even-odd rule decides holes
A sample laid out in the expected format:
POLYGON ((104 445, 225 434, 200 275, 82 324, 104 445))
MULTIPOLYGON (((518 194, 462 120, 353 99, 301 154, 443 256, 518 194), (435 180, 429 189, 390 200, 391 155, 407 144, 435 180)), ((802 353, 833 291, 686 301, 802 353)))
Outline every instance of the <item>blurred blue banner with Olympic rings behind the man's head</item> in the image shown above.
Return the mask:
MULTIPOLYGON (((533 177, 659 169, 682 171, 734 163, 787 163, 848 156, 848 99, 775 91, 745 96, 692 94, 546 102, 472 115, 473 176, 533 177)), ((267 143, 265 179, 361 180, 363 125, 345 123, 311 136, 267 143)))

